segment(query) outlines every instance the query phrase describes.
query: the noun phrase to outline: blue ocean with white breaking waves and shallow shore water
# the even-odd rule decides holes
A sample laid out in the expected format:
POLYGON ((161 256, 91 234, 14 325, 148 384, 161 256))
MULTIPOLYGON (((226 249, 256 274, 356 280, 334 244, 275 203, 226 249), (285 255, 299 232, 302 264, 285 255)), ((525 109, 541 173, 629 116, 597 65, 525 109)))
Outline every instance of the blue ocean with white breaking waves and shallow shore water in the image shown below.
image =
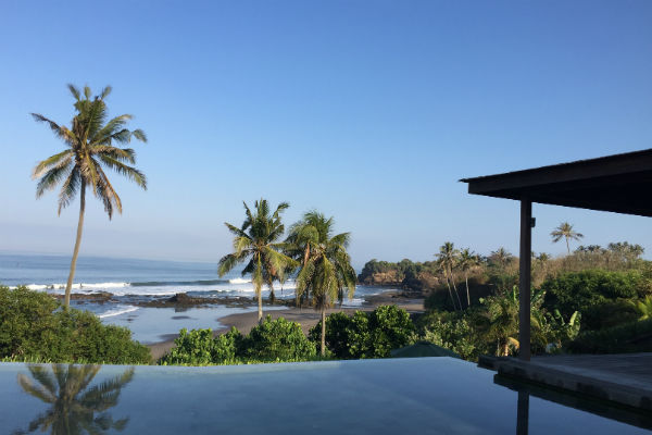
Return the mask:
MULTIPOLYGON (((51 294, 63 294, 70 269, 70 256, 9 254, 0 253, 0 284, 10 287, 26 285, 28 288, 51 294)), ((280 286, 275 283, 276 298, 293 298, 294 282, 288 279, 280 286)), ((387 288, 358 286, 355 296, 343 301, 344 307, 360 307, 365 296, 387 291, 387 288)), ((134 338, 141 343, 155 343, 170 338, 183 327, 218 328, 220 319, 241 312, 255 311, 254 289, 250 277, 239 271, 217 276, 217 264, 161 260, 138 260, 102 257, 79 257, 73 285, 73 294, 111 294, 103 302, 75 301, 75 308, 93 312, 102 322, 127 326, 134 338), (210 307, 150 308, 142 302, 187 293, 216 299, 210 307), (234 307, 233 298, 246 298, 250 304, 234 307)), ((263 297, 269 290, 265 286, 263 297)), ((264 311, 284 309, 264 307, 264 311)))

